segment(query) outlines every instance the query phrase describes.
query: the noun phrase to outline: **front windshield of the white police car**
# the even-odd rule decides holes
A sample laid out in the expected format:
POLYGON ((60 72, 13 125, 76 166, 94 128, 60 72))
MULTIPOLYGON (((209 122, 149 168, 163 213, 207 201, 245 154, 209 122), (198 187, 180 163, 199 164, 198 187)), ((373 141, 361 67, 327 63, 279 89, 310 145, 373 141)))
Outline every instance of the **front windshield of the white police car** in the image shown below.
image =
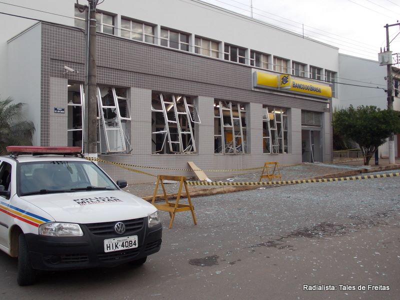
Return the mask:
POLYGON ((117 189, 105 173, 90 161, 32 161, 18 167, 20 195, 79 190, 117 189))

